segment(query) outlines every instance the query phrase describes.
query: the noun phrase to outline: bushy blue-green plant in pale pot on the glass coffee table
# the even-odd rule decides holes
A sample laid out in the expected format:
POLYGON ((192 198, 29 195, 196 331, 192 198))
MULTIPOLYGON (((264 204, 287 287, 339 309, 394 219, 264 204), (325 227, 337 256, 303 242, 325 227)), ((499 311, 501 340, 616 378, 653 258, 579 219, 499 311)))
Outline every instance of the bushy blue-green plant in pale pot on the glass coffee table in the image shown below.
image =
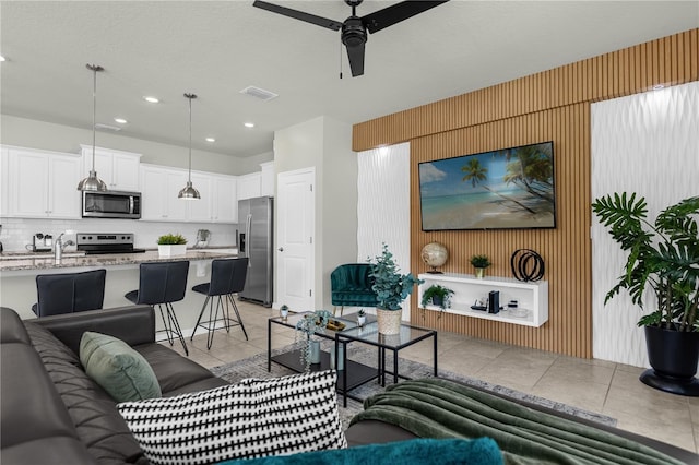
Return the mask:
MULTIPOLYGON (((417 279, 412 273, 401 274, 386 243, 381 254, 374 260, 369 276, 374 279, 371 289, 376 293, 378 301, 376 318, 379 333, 398 334, 401 331, 401 303, 413 293, 414 286, 423 281, 417 279)), ((371 262, 371 259, 367 261, 371 262)))

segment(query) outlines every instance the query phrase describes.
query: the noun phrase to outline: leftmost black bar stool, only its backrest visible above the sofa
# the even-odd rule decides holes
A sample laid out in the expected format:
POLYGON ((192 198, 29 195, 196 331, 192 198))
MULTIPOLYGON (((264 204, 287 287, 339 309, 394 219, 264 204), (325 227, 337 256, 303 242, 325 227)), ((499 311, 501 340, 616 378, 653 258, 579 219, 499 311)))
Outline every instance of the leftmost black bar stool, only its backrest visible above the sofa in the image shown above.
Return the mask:
POLYGON ((36 276, 37 317, 100 309, 105 301, 107 270, 36 276))

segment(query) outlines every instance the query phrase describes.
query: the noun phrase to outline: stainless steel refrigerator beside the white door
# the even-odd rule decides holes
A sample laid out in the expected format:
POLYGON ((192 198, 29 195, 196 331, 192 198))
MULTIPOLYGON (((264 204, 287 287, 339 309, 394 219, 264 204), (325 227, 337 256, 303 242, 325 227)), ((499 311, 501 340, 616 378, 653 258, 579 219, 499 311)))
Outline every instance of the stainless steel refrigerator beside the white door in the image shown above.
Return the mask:
POLYGON ((238 201, 238 257, 247 257, 248 277, 238 294, 244 300, 272 307, 273 199, 260 196, 238 201))

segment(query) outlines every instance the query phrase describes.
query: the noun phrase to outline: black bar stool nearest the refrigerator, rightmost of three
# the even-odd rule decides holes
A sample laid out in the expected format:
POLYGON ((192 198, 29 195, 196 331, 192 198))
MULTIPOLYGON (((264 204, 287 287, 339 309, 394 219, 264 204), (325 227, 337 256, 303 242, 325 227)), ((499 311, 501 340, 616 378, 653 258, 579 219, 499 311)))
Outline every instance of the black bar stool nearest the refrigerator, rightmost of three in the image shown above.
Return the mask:
POLYGON ((242 334, 245 334, 246 341, 248 339, 248 333, 245 331, 240 312, 238 312, 238 306, 233 298, 233 294, 239 293, 245 288, 245 279, 248 275, 248 259, 216 259, 211 262, 211 282, 199 284, 192 287, 194 293, 203 294, 206 296, 204 305, 199 312, 197 324, 190 341, 194 339, 194 333, 197 327, 201 326, 208 331, 206 348, 211 348, 211 344, 214 342, 214 331, 226 330, 230 332, 230 326, 240 326, 242 334), (216 312, 213 311, 214 299, 216 300, 216 312), (225 299, 225 300, 224 300, 225 299), (223 305, 225 302, 225 306, 223 305), (236 318, 230 318, 228 309, 228 302, 233 306, 233 310, 236 313, 236 318), (209 303, 209 320, 201 321, 204 310, 209 303), (221 318, 218 318, 218 309, 222 309, 221 318), (216 327, 216 323, 223 321, 223 326, 216 327))

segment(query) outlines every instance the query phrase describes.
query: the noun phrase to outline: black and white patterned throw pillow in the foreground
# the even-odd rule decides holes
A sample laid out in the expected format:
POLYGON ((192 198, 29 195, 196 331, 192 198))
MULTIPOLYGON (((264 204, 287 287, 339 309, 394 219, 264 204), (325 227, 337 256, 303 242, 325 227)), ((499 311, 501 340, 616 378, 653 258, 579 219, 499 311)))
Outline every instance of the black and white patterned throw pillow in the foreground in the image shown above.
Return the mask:
POLYGON ((334 371, 247 379, 117 407, 155 465, 342 449, 347 441, 337 413, 335 381, 334 371))

